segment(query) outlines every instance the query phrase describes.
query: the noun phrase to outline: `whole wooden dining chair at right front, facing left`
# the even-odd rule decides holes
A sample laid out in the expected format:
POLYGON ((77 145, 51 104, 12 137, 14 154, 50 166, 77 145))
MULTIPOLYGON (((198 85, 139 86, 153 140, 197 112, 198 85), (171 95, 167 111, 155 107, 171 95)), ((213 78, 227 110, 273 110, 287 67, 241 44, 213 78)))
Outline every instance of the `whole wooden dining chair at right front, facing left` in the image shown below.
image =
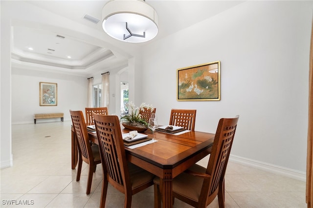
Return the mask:
MULTIPOLYGON (((220 119, 206 168, 191 166, 173 179, 173 196, 195 208, 206 208, 216 196, 224 208, 224 175, 239 116, 220 119)), ((154 179, 155 207, 160 207, 160 180, 154 179)))

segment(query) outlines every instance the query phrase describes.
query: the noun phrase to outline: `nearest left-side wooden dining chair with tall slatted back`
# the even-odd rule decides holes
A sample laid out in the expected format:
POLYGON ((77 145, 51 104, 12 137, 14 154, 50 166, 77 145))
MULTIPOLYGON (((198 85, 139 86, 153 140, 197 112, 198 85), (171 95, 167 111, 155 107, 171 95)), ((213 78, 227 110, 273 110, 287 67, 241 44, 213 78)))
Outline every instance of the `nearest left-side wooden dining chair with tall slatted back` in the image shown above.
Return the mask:
POLYGON ((93 118, 103 170, 100 208, 105 207, 108 183, 124 193, 124 208, 130 208, 132 196, 152 186, 154 175, 127 161, 117 116, 93 113, 93 118))

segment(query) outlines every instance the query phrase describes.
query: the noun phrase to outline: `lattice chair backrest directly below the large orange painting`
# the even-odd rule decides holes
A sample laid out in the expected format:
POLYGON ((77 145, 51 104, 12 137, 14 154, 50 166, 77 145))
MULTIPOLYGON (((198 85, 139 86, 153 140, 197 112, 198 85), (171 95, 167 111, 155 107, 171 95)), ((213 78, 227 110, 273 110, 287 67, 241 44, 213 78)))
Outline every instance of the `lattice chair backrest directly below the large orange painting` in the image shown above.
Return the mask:
POLYGON ((176 125, 183 127, 187 130, 194 131, 196 122, 196 112, 197 110, 172 109, 169 125, 176 125))

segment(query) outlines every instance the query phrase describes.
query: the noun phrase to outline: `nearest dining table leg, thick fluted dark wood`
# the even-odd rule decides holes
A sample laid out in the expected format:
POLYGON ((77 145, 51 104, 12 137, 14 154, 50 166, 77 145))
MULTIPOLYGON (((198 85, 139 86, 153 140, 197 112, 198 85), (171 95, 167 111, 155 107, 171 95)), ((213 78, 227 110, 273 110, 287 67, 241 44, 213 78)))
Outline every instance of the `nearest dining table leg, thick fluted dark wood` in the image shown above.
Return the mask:
POLYGON ((171 170, 164 170, 164 178, 160 181, 163 208, 173 207, 173 178, 171 170))

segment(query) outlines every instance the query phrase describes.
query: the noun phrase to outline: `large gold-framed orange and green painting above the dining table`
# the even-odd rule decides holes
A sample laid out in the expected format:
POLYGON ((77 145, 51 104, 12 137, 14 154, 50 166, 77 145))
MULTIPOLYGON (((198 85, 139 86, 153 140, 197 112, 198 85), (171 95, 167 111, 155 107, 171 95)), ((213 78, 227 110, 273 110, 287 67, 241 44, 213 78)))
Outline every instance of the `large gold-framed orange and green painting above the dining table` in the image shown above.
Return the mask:
POLYGON ((177 69, 178 101, 220 101, 221 62, 177 69))

